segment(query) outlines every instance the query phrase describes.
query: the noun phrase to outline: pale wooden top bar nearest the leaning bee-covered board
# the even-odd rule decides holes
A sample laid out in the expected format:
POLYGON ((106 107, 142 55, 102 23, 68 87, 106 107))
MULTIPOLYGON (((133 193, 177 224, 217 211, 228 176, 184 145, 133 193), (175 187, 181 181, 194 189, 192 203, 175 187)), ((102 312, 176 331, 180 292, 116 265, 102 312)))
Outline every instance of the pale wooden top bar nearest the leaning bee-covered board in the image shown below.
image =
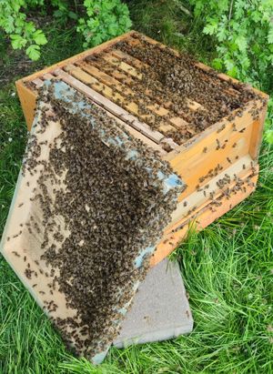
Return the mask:
POLYGON ((56 76, 61 77, 64 82, 66 82, 68 85, 73 86, 76 88, 79 92, 85 94, 86 96, 90 97, 92 100, 96 102, 99 106, 102 106, 106 108, 109 112, 113 113, 120 119, 126 121, 130 124, 130 126, 133 126, 136 128, 137 131, 140 131, 142 134, 146 135, 153 141, 155 141, 157 144, 160 143, 161 140, 164 139, 164 136, 160 134, 158 131, 152 130, 149 126, 147 126, 145 123, 140 122, 136 116, 129 115, 126 110, 122 109, 120 106, 116 106, 115 103, 112 103, 110 100, 108 100, 105 96, 100 95, 97 93, 94 89, 92 89, 89 86, 86 86, 79 80, 77 80, 75 77, 70 76, 62 69, 56 69, 54 74, 56 76))

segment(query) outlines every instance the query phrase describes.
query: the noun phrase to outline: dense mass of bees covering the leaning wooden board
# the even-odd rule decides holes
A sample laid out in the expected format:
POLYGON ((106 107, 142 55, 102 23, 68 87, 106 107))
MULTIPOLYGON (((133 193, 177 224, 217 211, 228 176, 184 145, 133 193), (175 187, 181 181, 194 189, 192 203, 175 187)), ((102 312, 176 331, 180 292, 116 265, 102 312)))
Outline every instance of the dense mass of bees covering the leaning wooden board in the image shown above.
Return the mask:
MULTIPOLYGON (((149 256, 139 268, 136 257, 141 248, 157 244, 183 186, 166 193, 158 172, 169 175, 172 170, 156 151, 127 134, 98 106, 71 114, 69 104, 57 100, 52 89, 40 94, 42 116, 23 166, 24 175, 43 170, 31 197, 42 217, 39 225, 35 217, 26 225, 30 236, 39 230, 43 238, 39 261, 48 268, 46 276, 45 268, 41 271, 50 289, 39 291, 46 297, 45 309, 66 342, 92 357, 115 339, 124 318, 121 309, 147 273, 149 256), (39 134, 47 129, 48 103, 62 131, 46 145, 48 159, 41 160, 39 134), (130 152, 137 157, 127 157, 130 152), (66 308, 76 310, 75 318, 54 317, 57 299, 48 297, 55 289, 65 295, 66 308)), ((85 100, 76 92, 70 98, 73 103, 85 100)), ((25 277, 37 286, 39 275, 29 264, 25 277)))

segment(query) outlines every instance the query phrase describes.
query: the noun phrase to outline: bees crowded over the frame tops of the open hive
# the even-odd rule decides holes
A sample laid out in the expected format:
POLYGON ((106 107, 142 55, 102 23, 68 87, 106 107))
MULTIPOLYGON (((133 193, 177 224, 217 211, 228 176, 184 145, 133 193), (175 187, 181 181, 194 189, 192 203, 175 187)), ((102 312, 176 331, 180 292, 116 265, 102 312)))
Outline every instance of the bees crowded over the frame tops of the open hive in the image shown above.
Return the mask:
MULTIPOLYGON (((140 43, 131 45, 125 39, 116 43, 114 48, 143 63, 143 66, 137 65, 134 58, 128 61, 142 78, 129 76, 129 87, 134 95, 126 95, 125 91, 125 100, 117 104, 126 108, 130 101, 134 100, 140 108, 139 114, 147 115, 147 124, 156 129, 162 121, 167 121, 173 116, 185 119, 190 131, 182 127, 166 133, 177 144, 184 143, 224 116, 230 121, 236 116, 242 116, 250 100, 257 99, 262 106, 266 105, 266 100, 255 94, 248 85, 219 79, 213 69, 205 72, 197 66, 192 56, 177 56, 170 48, 150 44, 137 33, 132 36, 140 43), (191 109, 188 105, 189 100, 200 106, 191 109), (150 104, 165 106, 169 112, 166 116, 157 116, 147 107, 150 104)), ((111 48, 107 51, 111 51, 111 48)), ((103 59, 105 52, 89 56, 86 61, 110 76, 119 71, 121 77, 115 78, 121 83, 128 83, 127 79, 122 77, 125 76, 125 71, 119 68, 118 64, 111 66, 103 59)), ((115 85, 111 88, 115 90, 115 85)), ((257 119, 260 109, 252 108, 249 113, 257 119)))

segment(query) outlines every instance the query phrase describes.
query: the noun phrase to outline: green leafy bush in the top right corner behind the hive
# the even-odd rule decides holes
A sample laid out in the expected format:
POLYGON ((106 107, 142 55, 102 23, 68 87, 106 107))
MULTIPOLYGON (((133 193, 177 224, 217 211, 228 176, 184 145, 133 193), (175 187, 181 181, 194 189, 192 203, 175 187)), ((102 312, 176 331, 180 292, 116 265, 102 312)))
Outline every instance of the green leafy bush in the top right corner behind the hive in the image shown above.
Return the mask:
POLYGON ((249 83, 273 75, 272 0, 190 0, 194 15, 205 20, 203 33, 213 35, 213 65, 249 83))

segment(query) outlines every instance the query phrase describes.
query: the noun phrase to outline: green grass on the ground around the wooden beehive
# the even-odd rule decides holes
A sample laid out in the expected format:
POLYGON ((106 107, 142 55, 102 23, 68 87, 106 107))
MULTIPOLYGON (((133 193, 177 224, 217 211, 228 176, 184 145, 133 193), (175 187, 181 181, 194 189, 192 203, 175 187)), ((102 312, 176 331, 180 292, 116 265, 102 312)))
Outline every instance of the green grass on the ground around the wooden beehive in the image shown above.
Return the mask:
MULTIPOLYGON (((142 3, 137 7, 135 2, 130 5, 136 29, 191 50, 205 60, 213 54, 209 41, 198 45, 200 35, 187 15, 163 2, 160 16, 158 7, 155 10, 151 3, 158 4, 152 1, 147 6, 142 3), (183 30, 187 37, 183 41, 174 35, 177 29, 183 31, 178 28, 179 17, 186 24, 183 30), (158 34, 161 23, 165 25, 161 28, 164 33, 158 34)), ((81 40, 71 28, 61 32, 57 25, 51 25, 47 35, 50 43, 44 58, 28 66, 29 72, 81 49, 81 40)), ((15 68, 20 55, 7 54, 6 45, 0 48, 6 65, 15 68)), ((5 226, 26 141, 24 116, 14 96, 15 77, 19 76, 15 73, 11 82, 0 88, 0 232, 5 226)), ((272 121, 272 113, 270 118, 272 121)), ((192 233, 173 255, 179 260, 190 296, 193 332, 162 343, 111 349, 97 368, 65 349, 50 322, 1 257, 0 373, 273 372, 272 248, 273 147, 264 144, 256 192, 203 232, 192 233)))

